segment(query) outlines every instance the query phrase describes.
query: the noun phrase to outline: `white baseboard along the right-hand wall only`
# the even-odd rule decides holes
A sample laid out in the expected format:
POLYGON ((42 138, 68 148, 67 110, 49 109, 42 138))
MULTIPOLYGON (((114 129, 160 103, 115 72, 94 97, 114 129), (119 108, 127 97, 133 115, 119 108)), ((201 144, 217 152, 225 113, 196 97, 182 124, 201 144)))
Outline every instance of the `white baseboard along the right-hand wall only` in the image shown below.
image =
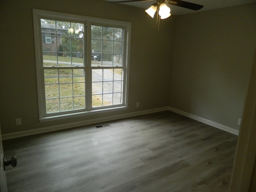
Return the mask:
POLYGON ((188 118, 197 120, 197 121, 202 122, 202 123, 204 123, 204 124, 207 124, 207 125, 213 126, 213 127, 215 127, 215 128, 224 130, 224 131, 226 131, 226 132, 229 132, 229 133, 232 133, 232 134, 235 134, 235 135, 238 135, 238 134, 239 134, 239 130, 230 128, 230 127, 228 127, 228 126, 224 126, 224 125, 222 125, 222 124, 218 124, 218 123, 216 123, 216 122, 213 122, 213 121, 210 121, 210 120, 208 120, 208 119, 205 119, 205 118, 202 118, 202 117, 199 117, 199 116, 196 116, 196 115, 193 115, 193 114, 184 112, 184 111, 182 111, 182 110, 178 110, 178 109, 172 108, 172 107, 169 107, 169 110, 172 111, 172 112, 178 113, 178 114, 180 114, 180 115, 186 116, 186 117, 188 117, 188 118))

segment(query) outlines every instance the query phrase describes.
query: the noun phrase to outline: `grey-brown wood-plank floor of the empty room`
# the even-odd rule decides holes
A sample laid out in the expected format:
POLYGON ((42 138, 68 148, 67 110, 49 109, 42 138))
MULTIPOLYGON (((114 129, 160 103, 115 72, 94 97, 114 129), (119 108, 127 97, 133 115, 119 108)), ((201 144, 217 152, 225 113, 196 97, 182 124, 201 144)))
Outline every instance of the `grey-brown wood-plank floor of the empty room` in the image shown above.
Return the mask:
POLYGON ((9 192, 227 192, 237 136, 158 112, 5 140, 9 192))

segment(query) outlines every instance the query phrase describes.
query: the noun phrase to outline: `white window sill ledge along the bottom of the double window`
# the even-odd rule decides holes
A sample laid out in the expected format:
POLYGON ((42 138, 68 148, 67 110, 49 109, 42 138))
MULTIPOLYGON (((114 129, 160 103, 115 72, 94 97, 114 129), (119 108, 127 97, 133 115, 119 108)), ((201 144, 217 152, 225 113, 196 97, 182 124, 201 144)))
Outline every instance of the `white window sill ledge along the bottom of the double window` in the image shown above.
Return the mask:
POLYGON ((106 109, 94 109, 94 110, 90 110, 90 111, 78 112, 78 113, 72 113, 72 114, 47 116, 47 117, 40 118, 39 121, 47 122, 47 121, 60 120, 60 119, 66 119, 66 118, 72 118, 72 117, 79 117, 79 116, 84 116, 84 115, 99 114, 99 113, 112 112, 112 111, 118 111, 118 110, 126 110, 127 108, 128 108, 128 106, 106 108, 106 109))

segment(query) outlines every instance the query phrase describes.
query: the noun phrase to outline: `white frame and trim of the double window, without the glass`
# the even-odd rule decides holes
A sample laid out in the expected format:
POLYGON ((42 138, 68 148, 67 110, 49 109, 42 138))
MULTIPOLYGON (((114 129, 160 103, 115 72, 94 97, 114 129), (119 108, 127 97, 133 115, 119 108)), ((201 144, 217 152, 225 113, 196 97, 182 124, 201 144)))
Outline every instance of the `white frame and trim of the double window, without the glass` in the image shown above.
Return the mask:
POLYGON ((84 116, 86 114, 96 114, 102 112, 110 112, 115 110, 124 110, 128 108, 128 77, 129 77, 129 61, 130 61, 130 39, 131 39, 131 23, 130 22, 122 22, 116 20, 108 20, 102 18, 93 18, 88 16, 79 16, 73 14, 65 14, 59 12, 45 11, 33 9, 33 22, 34 22, 34 44, 35 44, 35 56, 36 56, 36 76, 37 76, 37 87, 38 87, 38 109, 39 109, 39 120, 40 122, 50 121, 50 120, 58 120, 67 117, 77 117, 84 116), (92 90, 92 76, 91 73, 88 73, 86 79, 86 102, 89 104, 88 108, 79 111, 68 111, 68 112, 58 112, 46 114, 46 104, 45 104, 45 91, 44 91, 44 70, 42 69, 42 39, 41 39, 41 30, 40 30, 40 19, 52 19, 52 20, 68 20, 70 22, 80 22, 85 24, 85 30, 87 28, 86 33, 86 42, 84 46, 86 46, 86 52, 84 58, 84 66, 86 70, 92 71, 91 63, 91 34, 90 34, 90 26, 92 25, 100 25, 100 26, 112 26, 112 27, 120 27, 124 28, 124 86, 123 86, 123 103, 121 105, 112 105, 112 106, 104 106, 104 107, 91 107, 91 90, 92 90))

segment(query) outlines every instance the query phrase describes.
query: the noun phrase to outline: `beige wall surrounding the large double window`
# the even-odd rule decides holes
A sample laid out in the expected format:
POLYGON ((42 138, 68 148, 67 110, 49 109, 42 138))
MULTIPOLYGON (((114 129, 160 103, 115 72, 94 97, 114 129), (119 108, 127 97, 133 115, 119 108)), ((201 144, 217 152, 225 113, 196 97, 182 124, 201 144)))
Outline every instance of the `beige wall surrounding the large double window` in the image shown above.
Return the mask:
POLYGON ((101 0, 0 2, 0 116, 2 134, 168 106, 175 16, 160 31, 140 8, 101 0), (40 123, 32 8, 132 22, 129 108, 121 112, 40 123), (136 108, 140 102, 140 108, 136 108), (22 118, 16 126, 15 118, 22 118))

